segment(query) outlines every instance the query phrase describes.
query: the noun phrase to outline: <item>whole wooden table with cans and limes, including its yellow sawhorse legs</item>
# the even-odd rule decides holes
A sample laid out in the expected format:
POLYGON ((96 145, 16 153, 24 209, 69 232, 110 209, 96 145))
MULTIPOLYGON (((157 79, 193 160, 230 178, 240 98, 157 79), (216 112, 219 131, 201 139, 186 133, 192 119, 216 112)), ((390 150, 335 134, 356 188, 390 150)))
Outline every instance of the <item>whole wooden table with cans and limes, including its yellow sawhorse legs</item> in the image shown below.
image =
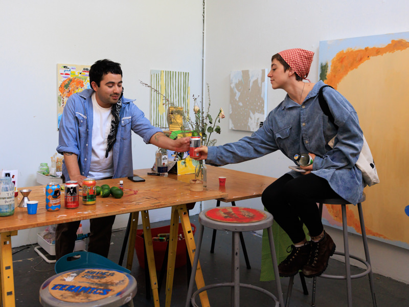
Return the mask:
MULTIPOLYGON (((65 209, 64 195, 63 193, 61 193, 61 209, 59 211, 47 211, 45 186, 28 187, 28 189, 32 190, 32 192, 30 193, 30 199, 38 201, 37 214, 29 215, 27 214, 26 208, 16 207, 15 213, 13 215, 4 216, 1 218, 0 297, 2 300, 2 304, 0 304, 0 306, 2 307, 15 306, 11 237, 13 235, 16 235, 18 230, 60 224, 65 222, 81 221, 86 220, 88 218, 117 215, 123 213, 132 213, 133 216, 135 217, 135 215, 137 216, 135 212, 139 211, 142 212, 143 224, 145 225, 145 227, 148 227, 150 229, 148 215, 149 210, 172 207, 173 208, 172 217, 175 215, 178 217, 179 215, 185 215, 184 213, 181 213, 184 210, 184 208, 185 212, 187 212, 186 205, 184 204, 217 199, 227 195, 226 193, 220 192, 218 190, 208 189, 206 189, 203 192, 191 192, 189 190, 189 184, 185 182, 158 176, 143 176, 142 173, 140 174, 140 176, 145 178, 146 181, 134 183, 127 180, 126 178, 107 179, 98 181, 98 185, 108 184, 109 186, 118 186, 119 181, 123 180, 124 195, 121 199, 115 199, 112 197, 109 198, 98 197, 97 203, 95 205, 85 206, 86 210, 83 210, 83 208, 85 208, 83 205, 80 205, 80 209, 77 210, 65 209)), ((20 200, 21 196, 20 199, 17 200, 17 203, 20 200)), ((188 216, 184 216, 183 220, 186 221, 186 218, 189 219, 188 216)), ((184 223, 186 224, 187 222, 184 223)), ((187 232, 189 231, 187 230, 187 232)), ((175 236, 173 233, 172 235, 175 236)), ((193 234, 190 235, 191 239, 187 239, 187 241, 189 240, 194 244, 193 234)), ((185 233, 186 238, 189 238, 190 235, 189 233, 185 233)), ((147 251, 149 252, 150 255, 152 255, 149 261, 154 266, 153 248, 151 245, 151 241, 152 238, 148 237, 147 244, 149 244, 150 242, 150 245, 147 245, 147 251)), ((176 245, 174 248, 175 253, 176 245)), ((156 272, 155 270, 150 270, 150 272, 152 274, 151 280, 154 281, 156 279, 156 272)), ((169 272, 173 272, 173 270, 171 269, 171 271, 169 272)), ((157 284, 157 281, 155 282, 157 284)), ((168 294, 168 296, 170 297, 170 294, 168 294)), ((159 306, 159 301, 155 302, 155 306, 159 306)))

